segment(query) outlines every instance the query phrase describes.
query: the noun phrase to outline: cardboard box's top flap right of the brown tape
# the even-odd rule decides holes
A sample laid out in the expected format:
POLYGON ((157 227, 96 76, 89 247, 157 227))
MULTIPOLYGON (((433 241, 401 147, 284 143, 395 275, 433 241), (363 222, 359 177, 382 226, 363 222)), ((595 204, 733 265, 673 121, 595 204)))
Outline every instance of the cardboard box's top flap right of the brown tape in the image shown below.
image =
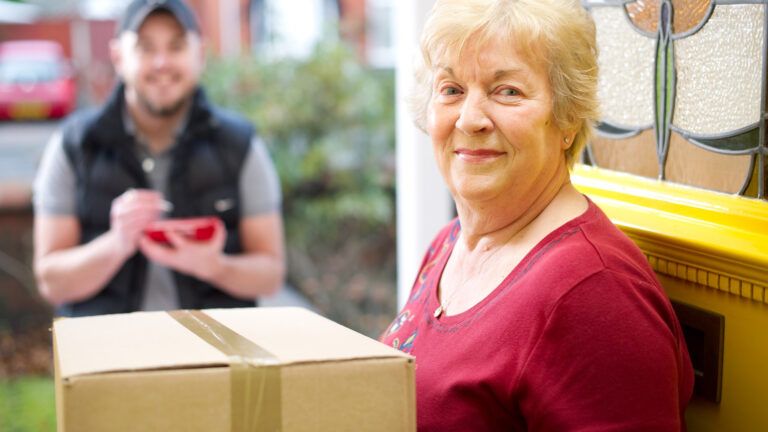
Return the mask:
POLYGON ((410 358, 402 351, 298 307, 209 309, 204 312, 271 352, 282 363, 410 358))

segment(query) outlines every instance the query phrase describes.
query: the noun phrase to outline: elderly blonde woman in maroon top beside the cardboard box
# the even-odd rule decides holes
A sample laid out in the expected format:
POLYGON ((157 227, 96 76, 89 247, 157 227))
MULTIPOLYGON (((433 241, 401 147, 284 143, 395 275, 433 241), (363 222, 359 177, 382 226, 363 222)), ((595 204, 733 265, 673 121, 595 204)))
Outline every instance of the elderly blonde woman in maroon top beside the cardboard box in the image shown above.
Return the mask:
POLYGON ((382 340, 423 431, 680 431, 693 374, 640 250, 570 183, 597 116, 577 0, 438 0, 414 106, 456 202, 382 340))

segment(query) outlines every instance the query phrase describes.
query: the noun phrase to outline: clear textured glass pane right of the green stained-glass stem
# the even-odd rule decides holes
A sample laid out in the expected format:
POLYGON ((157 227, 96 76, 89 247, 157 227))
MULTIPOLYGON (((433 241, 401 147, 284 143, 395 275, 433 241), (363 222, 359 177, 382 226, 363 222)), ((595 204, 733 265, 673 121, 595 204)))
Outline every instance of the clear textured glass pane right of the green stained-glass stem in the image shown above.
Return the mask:
POLYGON ((763 8, 716 6, 699 32, 675 41, 675 126, 716 134, 760 120, 763 8))

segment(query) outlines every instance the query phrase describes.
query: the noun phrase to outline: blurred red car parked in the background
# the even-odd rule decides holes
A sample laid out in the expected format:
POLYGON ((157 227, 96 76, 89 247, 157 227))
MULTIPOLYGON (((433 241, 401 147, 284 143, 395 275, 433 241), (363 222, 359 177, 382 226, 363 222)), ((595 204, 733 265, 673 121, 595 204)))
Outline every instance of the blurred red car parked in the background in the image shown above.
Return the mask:
POLYGON ((75 109, 72 67, 56 42, 0 42, 0 120, 61 118, 75 109))

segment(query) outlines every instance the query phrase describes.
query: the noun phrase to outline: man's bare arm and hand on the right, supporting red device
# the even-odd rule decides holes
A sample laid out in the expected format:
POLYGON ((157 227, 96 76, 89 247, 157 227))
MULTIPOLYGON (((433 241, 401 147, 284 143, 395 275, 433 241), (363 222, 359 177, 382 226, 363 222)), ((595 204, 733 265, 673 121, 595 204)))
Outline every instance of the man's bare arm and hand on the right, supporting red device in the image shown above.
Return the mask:
POLYGON ((279 212, 240 221, 243 253, 222 252, 226 228, 219 221, 213 238, 199 242, 166 232, 170 246, 143 238, 142 253, 159 264, 204 280, 233 297, 254 299, 275 293, 285 278, 283 226, 279 212))

